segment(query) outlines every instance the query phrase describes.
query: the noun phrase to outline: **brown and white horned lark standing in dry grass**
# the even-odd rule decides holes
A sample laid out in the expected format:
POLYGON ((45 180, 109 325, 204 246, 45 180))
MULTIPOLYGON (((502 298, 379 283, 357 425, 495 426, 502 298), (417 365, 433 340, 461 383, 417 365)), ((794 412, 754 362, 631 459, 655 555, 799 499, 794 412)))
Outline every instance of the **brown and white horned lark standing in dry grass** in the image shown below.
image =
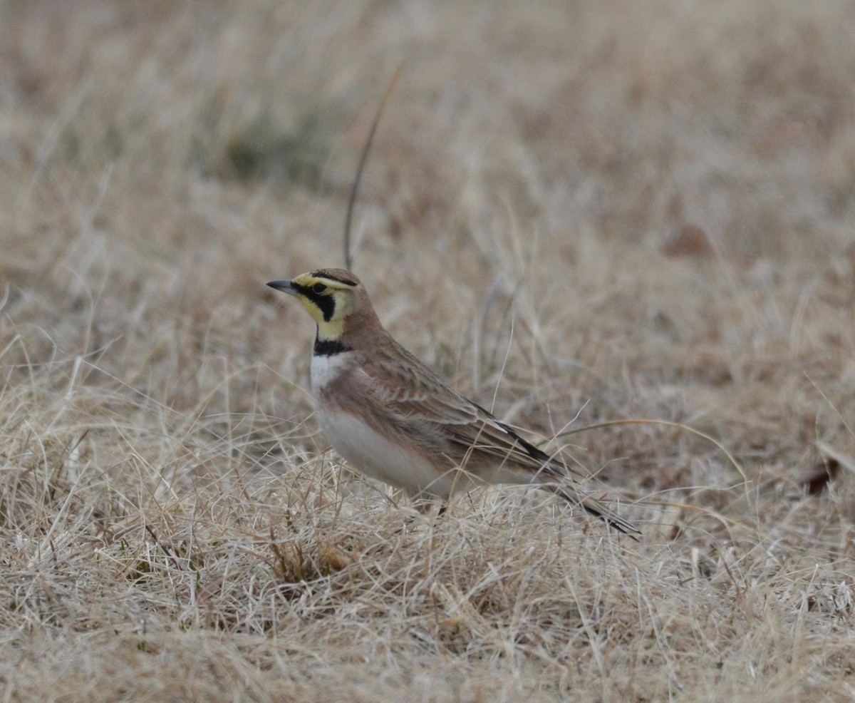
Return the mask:
POLYGON ((534 484, 640 534, 393 340, 350 271, 319 269, 268 286, 298 298, 317 322, 312 392, 327 439, 354 468, 413 497, 448 499, 473 482, 534 484))

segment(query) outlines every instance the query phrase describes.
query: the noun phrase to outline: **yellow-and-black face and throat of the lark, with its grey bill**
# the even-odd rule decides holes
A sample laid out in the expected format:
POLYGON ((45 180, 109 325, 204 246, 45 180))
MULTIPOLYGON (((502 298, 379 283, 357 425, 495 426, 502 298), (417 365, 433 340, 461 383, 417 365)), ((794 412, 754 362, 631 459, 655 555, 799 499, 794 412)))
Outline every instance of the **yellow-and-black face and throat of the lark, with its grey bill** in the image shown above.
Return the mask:
POLYGON ((339 340, 345 318, 353 312, 352 289, 356 283, 333 277, 327 271, 301 274, 291 281, 272 281, 268 286, 296 296, 317 322, 319 340, 339 340))

